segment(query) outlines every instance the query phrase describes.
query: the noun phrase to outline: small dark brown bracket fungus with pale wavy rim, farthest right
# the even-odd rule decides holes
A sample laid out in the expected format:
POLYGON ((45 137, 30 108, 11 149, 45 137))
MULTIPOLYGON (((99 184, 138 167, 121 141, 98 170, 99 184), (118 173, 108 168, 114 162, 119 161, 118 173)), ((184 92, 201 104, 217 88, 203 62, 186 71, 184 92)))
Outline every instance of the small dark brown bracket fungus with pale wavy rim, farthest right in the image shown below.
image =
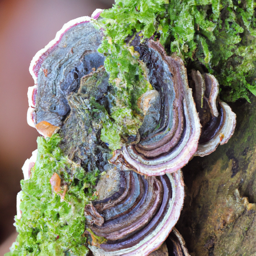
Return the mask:
POLYGON ((234 133, 236 115, 225 102, 219 100, 219 83, 208 73, 192 70, 191 87, 194 89, 196 109, 202 125, 195 156, 204 157, 225 144, 234 133))

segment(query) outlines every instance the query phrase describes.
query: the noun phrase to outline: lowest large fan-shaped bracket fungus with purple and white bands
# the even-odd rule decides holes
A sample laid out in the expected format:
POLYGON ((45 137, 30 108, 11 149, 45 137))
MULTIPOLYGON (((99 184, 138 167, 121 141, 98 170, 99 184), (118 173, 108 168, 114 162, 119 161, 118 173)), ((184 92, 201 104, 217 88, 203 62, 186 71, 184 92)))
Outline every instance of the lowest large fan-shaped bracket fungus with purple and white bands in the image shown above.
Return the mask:
POLYGON ((95 235, 108 241, 99 248, 89 247, 95 256, 147 256, 160 247, 179 219, 184 199, 182 172, 143 177, 122 171, 120 175, 119 191, 93 202, 105 222, 88 223, 95 235))

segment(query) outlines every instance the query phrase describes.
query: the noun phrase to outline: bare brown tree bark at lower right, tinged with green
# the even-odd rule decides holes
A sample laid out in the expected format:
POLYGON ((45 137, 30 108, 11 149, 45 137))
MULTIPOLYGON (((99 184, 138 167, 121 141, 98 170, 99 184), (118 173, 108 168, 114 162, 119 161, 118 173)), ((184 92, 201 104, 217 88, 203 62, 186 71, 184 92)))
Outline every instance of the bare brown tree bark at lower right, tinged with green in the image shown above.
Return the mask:
POLYGON ((186 197, 176 228, 191 256, 256 256, 256 98, 230 104, 229 142, 183 168, 186 197))

